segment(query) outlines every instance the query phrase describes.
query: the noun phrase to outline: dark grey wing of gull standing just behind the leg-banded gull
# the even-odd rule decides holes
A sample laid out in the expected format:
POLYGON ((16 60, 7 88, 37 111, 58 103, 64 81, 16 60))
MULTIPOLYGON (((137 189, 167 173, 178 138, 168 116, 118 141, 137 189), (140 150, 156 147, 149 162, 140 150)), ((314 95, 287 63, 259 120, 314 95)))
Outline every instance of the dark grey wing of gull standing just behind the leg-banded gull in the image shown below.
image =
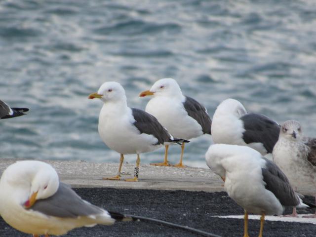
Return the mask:
POLYGON ((211 134, 212 120, 209 118, 205 107, 189 96, 186 96, 183 105, 188 115, 201 125, 203 133, 211 134))

